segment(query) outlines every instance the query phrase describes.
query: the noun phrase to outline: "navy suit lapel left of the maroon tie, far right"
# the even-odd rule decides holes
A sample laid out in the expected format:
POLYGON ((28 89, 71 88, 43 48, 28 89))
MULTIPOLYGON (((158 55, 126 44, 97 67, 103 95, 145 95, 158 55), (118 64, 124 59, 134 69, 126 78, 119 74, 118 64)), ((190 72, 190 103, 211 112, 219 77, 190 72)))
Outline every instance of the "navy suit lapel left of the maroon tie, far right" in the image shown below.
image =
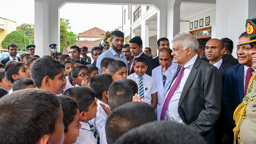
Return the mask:
POLYGON ((240 102, 242 102, 242 99, 244 98, 244 65, 240 65, 238 67, 236 72, 237 77, 237 90, 239 94, 240 102))

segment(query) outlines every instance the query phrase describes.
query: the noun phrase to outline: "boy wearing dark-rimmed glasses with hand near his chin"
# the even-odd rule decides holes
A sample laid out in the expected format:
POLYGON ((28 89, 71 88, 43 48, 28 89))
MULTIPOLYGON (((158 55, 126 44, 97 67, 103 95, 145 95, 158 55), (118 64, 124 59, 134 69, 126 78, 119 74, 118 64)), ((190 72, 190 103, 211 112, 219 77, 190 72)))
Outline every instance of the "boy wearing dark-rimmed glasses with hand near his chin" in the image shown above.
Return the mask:
POLYGON ((85 86, 89 87, 91 73, 85 65, 76 65, 71 70, 71 77, 75 87, 85 86))

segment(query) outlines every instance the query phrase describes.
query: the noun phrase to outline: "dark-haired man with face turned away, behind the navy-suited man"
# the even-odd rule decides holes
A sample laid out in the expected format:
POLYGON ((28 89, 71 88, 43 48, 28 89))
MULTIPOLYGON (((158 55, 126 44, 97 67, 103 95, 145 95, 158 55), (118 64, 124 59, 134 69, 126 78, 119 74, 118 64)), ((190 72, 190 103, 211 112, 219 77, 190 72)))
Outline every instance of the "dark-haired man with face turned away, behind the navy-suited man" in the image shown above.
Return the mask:
POLYGON ((221 41, 223 42, 224 48, 226 49, 226 54, 222 56, 222 60, 233 65, 238 64, 238 60, 232 56, 234 47, 233 41, 229 38, 222 38, 221 41))

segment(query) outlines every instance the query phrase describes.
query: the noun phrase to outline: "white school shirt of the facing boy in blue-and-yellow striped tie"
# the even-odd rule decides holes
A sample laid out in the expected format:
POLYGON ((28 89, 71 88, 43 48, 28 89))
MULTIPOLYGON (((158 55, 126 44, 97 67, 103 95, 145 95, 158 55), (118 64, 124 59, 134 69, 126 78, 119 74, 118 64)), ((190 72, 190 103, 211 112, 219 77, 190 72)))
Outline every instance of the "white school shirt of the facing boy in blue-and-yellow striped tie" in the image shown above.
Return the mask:
MULTIPOLYGON (((146 73, 142 76, 143 80, 143 90, 144 90, 144 101, 148 104, 152 104, 151 102, 151 94, 157 92, 157 84, 153 77, 147 75, 146 73)), ((131 79, 137 83, 139 89, 139 76, 136 73, 132 73, 127 77, 127 79, 131 79)), ((139 91, 138 91, 139 94, 139 91)))

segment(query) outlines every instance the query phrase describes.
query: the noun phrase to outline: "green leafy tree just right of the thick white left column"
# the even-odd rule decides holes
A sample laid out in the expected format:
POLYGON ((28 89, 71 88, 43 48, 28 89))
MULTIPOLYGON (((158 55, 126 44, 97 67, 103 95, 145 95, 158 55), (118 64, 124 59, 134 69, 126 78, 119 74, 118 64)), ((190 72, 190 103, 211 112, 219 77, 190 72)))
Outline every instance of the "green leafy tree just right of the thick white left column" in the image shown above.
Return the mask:
POLYGON ((69 20, 65 18, 60 18, 60 51, 67 52, 68 46, 74 45, 78 41, 78 37, 72 31, 67 31, 71 29, 69 25, 69 20))

